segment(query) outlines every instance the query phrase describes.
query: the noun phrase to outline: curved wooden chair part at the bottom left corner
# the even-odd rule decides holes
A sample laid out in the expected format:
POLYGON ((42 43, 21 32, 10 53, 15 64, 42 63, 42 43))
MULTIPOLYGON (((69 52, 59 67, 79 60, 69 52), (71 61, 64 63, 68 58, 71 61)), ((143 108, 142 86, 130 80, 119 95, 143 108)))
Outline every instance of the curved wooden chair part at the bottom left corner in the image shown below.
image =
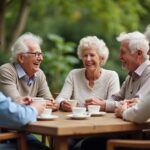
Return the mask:
POLYGON ((19 150, 27 150, 25 134, 19 132, 0 133, 0 141, 17 138, 19 150))

